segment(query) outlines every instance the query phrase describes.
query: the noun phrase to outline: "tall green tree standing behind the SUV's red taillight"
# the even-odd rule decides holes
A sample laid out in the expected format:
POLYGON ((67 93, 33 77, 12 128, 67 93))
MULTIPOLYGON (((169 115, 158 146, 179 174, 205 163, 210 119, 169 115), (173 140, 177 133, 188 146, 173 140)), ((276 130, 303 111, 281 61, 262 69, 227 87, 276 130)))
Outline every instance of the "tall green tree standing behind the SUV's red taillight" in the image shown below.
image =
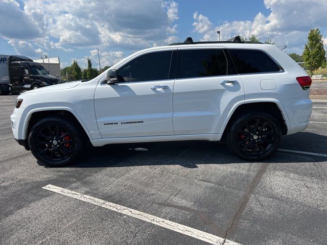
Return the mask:
POLYGON ((306 68, 310 71, 310 76, 312 76, 314 70, 322 65, 325 54, 319 28, 311 29, 308 35, 308 43, 303 51, 303 60, 306 68))

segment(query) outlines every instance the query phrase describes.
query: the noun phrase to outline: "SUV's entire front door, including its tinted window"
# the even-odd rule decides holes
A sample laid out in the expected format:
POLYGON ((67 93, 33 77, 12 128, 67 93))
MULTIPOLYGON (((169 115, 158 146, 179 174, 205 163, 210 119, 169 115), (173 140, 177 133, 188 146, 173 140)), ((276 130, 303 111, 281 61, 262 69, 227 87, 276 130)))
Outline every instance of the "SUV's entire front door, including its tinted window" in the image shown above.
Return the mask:
POLYGON ((171 63, 176 51, 150 51, 119 67, 118 83, 99 83, 95 111, 103 138, 174 135, 171 63))

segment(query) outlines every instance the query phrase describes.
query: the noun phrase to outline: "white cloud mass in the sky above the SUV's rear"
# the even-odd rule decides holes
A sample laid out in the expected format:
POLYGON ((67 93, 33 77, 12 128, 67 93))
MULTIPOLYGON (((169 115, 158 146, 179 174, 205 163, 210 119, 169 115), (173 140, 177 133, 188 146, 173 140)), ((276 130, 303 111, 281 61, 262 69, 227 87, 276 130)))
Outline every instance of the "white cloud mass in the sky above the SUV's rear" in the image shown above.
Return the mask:
POLYGON ((221 31, 221 40, 255 34, 262 41, 271 38, 275 43, 287 44, 288 53, 300 53, 310 29, 325 30, 326 0, 264 0, 264 4, 271 11, 267 17, 258 13, 252 20, 227 21, 216 27, 207 17, 195 12, 194 31, 202 33, 204 41, 217 40, 216 31, 221 31))

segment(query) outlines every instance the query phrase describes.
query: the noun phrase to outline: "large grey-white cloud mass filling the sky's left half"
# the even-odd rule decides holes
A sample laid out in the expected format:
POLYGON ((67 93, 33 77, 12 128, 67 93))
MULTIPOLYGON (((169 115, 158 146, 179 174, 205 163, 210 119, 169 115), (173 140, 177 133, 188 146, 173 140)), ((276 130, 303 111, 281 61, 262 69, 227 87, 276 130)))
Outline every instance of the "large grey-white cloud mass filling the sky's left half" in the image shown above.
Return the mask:
POLYGON ((48 48, 111 46, 134 50, 177 32, 178 4, 164 0, 0 0, 0 36, 30 40, 48 48), (21 7, 23 7, 21 9, 21 7), (2 18, 2 19, 1 19, 2 18), (56 43, 39 41, 58 39, 56 43))

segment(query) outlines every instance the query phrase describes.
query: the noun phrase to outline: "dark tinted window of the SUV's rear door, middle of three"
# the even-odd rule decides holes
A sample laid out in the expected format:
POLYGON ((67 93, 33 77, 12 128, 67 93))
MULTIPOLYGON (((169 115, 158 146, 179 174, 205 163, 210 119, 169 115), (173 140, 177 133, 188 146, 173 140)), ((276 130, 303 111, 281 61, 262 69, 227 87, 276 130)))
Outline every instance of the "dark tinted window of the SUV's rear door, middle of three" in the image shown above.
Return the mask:
POLYGON ((227 75, 227 60, 223 50, 178 51, 177 78, 197 78, 227 75))

